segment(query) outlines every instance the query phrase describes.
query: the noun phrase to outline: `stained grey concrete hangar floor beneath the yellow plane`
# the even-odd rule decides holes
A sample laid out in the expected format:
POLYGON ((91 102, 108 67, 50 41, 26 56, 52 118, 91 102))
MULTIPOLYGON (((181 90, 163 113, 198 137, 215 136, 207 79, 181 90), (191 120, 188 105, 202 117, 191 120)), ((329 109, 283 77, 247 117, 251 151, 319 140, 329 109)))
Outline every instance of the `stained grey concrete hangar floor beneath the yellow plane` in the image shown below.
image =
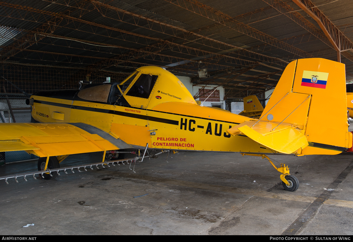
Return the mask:
MULTIPOLYGON (((136 173, 120 165, 54 180, 1 180, 0 234, 281 235, 353 160, 348 153, 271 156, 300 181, 287 192, 261 157, 185 151, 166 157, 137 163, 136 173)), ((72 155, 60 166, 100 159, 101 153, 72 155)), ((0 176, 36 167, 8 164, 0 176)), ((298 235, 353 235, 352 212, 350 172, 298 235)))

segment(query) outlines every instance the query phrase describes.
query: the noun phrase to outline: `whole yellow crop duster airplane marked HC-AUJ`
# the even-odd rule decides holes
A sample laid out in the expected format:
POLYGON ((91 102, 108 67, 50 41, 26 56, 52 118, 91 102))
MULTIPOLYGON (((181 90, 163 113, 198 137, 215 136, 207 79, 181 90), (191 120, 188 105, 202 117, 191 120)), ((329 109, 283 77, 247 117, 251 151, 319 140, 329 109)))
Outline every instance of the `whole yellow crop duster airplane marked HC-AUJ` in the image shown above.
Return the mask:
MULTIPOLYGON (((172 73, 140 67, 119 84, 33 94, 27 104, 40 123, 1 124, 0 151, 40 156, 38 170, 46 171, 59 168, 64 155, 146 144, 151 149, 243 153, 269 161, 266 155, 277 153, 339 154, 352 146, 345 80, 344 64, 321 58, 292 61, 261 117, 253 119, 199 106, 172 73), (319 121, 323 106, 331 112, 325 122, 319 121)), ((283 187, 297 190, 299 181, 288 167, 276 169, 283 187)))

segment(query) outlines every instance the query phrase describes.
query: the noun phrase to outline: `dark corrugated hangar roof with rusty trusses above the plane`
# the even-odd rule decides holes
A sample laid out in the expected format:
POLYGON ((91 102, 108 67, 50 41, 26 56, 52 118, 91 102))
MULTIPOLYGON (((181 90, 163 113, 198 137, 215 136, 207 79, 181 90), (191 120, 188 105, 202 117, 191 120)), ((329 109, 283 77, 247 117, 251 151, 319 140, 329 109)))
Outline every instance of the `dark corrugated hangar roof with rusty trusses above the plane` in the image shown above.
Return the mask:
POLYGON ((345 36, 340 57, 353 81, 349 0, 2 0, 0 62, 2 69, 21 64, 101 76, 156 65, 195 85, 225 85, 226 98, 239 98, 273 88, 291 60, 337 60, 295 1, 320 10, 345 36), (200 68, 208 77, 198 77, 200 68))

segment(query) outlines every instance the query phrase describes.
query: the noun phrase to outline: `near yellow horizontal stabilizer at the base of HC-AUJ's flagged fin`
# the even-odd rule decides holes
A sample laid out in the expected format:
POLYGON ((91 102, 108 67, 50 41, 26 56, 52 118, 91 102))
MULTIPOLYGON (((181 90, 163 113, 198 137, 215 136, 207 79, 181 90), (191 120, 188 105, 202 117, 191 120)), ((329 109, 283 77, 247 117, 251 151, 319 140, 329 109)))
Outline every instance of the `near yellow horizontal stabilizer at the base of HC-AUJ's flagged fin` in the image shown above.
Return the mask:
POLYGON ((267 121, 255 123, 256 121, 246 121, 227 132, 231 135, 244 134, 253 141, 284 154, 292 154, 308 145, 305 135, 295 125, 267 121))

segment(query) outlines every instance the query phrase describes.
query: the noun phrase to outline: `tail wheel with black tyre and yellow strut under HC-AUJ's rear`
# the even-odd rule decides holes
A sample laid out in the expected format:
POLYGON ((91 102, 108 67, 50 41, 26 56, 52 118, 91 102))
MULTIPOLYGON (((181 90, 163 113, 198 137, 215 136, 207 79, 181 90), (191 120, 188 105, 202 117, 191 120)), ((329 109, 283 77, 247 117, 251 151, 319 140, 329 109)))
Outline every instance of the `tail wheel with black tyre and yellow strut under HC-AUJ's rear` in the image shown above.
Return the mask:
POLYGON ((295 176, 289 174, 289 168, 288 166, 286 166, 286 164, 281 163, 281 167, 277 168, 267 155, 258 155, 258 154, 241 154, 241 155, 260 156, 262 157, 262 159, 266 158, 277 171, 282 173, 280 178, 282 180, 282 186, 286 191, 294 192, 298 189, 299 180, 295 176))

